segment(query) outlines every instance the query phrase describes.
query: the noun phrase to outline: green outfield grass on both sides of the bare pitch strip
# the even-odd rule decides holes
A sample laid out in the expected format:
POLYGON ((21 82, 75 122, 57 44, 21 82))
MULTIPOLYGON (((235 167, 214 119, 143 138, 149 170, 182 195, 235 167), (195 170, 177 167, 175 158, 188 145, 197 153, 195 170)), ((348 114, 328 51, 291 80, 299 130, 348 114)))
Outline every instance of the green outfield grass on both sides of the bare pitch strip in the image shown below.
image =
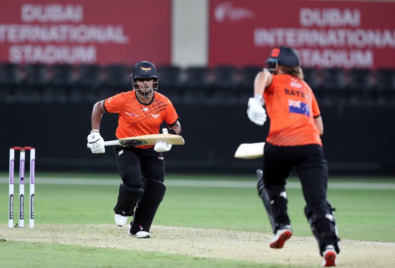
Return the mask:
MULTIPOLYGON (((1 174, 0 174, 1 175, 1 174)), ((8 176, 7 174, 3 174, 8 176)), ((39 175, 38 175, 39 176, 39 175)), ((118 178, 117 174, 42 174, 40 177, 70 178, 118 178)), ((40 178, 39 177, 39 178, 40 178)), ((167 179, 194 180, 247 180, 254 181, 254 176, 187 176, 167 175, 167 179)), ((291 179, 294 180, 294 179, 291 179)), ((346 181, 345 178, 331 178, 331 181, 346 181)), ((391 178, 347 178, 347 182, 395 183, 391 178)), ((28 193, 29 186, 26 186, 28 193)), ((0 184, 0 224, 7 225, 7 192, 8 185, 0 184)), ((17 195, 18 186, 15 185, 17 195)), ((113 207, 117 200, 117 186, 90 185, 36 185, 35 222, 40 224, 114 224, 113 207)), ((294 235, 311 236, 309 224, 304 216, 305 202, 300 189, 289 189, 288 209, 294 235)), ((335 217, 341 238, 395 242, 394 219, 395 190, 328 190, 328 199, 337 208, 335 217)), ((26 208, 28 205, 26 204, 26 208)), ((19 211, 15 200, 15 212, 19 211)), ((14 220, 16 222, 16 220, 14 220)), ((25 219, 25 224, 28 222, 25 219)), ((207 188, 207 187, 167 187, 164 200, 159 207, 154 225, 193 227, 223 230, 244 230, 271 232, 269 220, 262 201, 254 188, 207 188)), ((1 234, 0 234, 1 238, 1 234)), ((0 266, 4 260, 11 262, 21 256, 43 258, 45 254, 53 254, 52 259, 45 260, 40 267, 119 267, 122 256, 130 251, 98 249, 88 247, 54 245, 44 243, 25 243, 0 241, 0 266), (24 249, 23 254, 20 250, 24 249), (25 250, 26 249, 26 250, 25 250), (26 254, 26 255, 25 255, 26 254), (107 257, 106 257, 107 256, 107 257), (103 261, 101 261, 103 257, 103 261), (68 265, 66 258, 72 258, 68 265), (90 258, 92 263, 79 261, 90 258), (104 261, 107 258, 107 261, 104 261), (114 261, 111 261, 114 260, 114 261), (55 263, 56 262, 56 263, 55 263), (61 265, 59 265, 59 263, 61 265), (100 264, 100 266, 95 265, 100 264)), ((128 253, 129 252, 129 253, 128 253)), ((194 258, 175 254, 133 251, 133 266, 145 267, 138 259, 155 259, 150 267, 258 267, 252 262, 236 262, 194 258), (172 262, 166 263, 165 260, 172 262)), ((26 257, 28 258, 28 257, 26 257)), ((22 260, 22 259, 21 259, 22 260)), ((27 261, 27 259, 26 259, 27 261)), ((8 263, 4 263, 8 264, 8 263)), ((14 266, 15 267, 15 266, 14 266)), ((259 264, 259 267, 266 267, 259 264)), ((286 266, 267 266, 286 267, 286 266)))

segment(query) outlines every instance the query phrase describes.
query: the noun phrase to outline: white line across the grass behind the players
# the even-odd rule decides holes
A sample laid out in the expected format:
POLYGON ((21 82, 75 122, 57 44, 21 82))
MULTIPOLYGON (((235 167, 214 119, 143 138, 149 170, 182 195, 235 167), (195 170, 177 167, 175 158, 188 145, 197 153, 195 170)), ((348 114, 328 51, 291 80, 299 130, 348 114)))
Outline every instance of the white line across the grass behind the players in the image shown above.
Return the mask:
MULTIPOLYGON (((8 177, 0 177, 0 183, 7 183, 8 177)), ((116 179, 82 179, 82 178, 36 178, 37 184, 60 185, 119 185, 116 179)), ((15 180, 15 184, 18 184, 15 180)), ((196 181, 196 180, 165 180, 166 186, 174 187, 224 187, 224 188, 255 188, 255 182, 241 181, 196 181)), ((288 182, 286 188, 301 189, 299 182, 288 182)), ((329 189, 354 190, 395 190, 395 183, 329 183, 329 189)))

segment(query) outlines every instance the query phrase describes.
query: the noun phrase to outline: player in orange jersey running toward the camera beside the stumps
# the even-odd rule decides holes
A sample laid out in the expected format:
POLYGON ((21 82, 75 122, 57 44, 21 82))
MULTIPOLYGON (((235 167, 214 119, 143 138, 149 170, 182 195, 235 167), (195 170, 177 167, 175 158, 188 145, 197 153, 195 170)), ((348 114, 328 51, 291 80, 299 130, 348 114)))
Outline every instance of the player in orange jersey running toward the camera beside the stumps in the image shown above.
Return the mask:
MULTIPOLYGON (((92 131, 88 147, 92 153, 105 153, 99 127, 103 113, 119 115, 118 139, 148 134, 159 134, 165 121, 164 134, 179 134, 178 115, 165 96, 157 92, 158 73, 152 62, 141 61, 134 66, 132 91, 122 92, 97 102, 92 111, 92 131)), ((115 157, 122 184, 114 207, 115 222, 122 227, 128 216, 134 216, 128 234, 137 238, 151 237, 150 228, 165 193, 164 159, 171 145, 159 141, 155 146, 115 146, 115 157), (137 207, 136 207, 137 205, 137 207), (136 208, 136 210, 135 210, 136 208)))

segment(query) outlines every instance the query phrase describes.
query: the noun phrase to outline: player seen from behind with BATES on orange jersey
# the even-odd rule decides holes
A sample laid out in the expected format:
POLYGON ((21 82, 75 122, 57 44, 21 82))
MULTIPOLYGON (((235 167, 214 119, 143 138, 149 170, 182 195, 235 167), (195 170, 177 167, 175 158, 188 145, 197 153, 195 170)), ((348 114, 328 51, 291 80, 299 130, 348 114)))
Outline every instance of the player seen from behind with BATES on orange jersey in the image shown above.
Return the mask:
POLYGON ((334 208, 326 200, 328 167, 322 150, 323 123, 316 98, 303 80, 295 49, 274 48, 267 64, 270 69, 255 77, 254 98, 248 101, 247 115, 252 122, 263 125, 266 105, 270 117, 263 171, 257 170, 259 196, 274 232, 270 247, 282 248, 292 235, 285 183, 295 168, 306 200, 305 215, 323 256, 322 266, 335 266, 340 239, 334 208))

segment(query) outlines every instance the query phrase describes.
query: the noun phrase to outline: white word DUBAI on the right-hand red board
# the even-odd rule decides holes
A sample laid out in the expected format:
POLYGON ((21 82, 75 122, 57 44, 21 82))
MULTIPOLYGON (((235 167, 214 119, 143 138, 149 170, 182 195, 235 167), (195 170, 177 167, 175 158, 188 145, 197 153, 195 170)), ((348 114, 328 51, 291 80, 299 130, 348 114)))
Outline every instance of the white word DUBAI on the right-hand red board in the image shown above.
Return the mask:
POLYGON ((361 22, 359 10, 349 8, 301 8, 299 20, 303 27, 358 27, 361 22))

